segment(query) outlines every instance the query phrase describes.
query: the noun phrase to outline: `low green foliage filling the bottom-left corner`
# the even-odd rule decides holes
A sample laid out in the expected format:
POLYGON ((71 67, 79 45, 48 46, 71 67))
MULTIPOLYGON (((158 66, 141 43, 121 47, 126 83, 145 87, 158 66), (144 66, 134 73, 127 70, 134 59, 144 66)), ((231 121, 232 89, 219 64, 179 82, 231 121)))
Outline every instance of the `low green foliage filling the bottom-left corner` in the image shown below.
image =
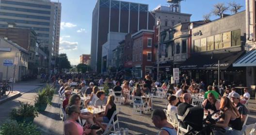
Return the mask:
POLYGON ((16 121, 6 121, 0 125, 0 135, 41 135, 36 130, 36 125, 33 123, 17 123, 16 121))

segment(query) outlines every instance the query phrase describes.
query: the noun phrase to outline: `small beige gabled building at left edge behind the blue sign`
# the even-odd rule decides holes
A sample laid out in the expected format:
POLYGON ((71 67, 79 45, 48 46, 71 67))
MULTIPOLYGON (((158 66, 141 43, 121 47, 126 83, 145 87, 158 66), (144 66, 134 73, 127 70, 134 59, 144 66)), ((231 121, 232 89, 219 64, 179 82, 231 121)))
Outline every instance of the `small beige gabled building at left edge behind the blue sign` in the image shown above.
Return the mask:
POLYGON ((21 81, 22 76, 28 72, 29 52, 10 40, 0 38, 0 80, 13 78, 15 57, 18 57, 15 81, 21 81), (13 61, 13 66, 3 66, 7 59, 13 61))

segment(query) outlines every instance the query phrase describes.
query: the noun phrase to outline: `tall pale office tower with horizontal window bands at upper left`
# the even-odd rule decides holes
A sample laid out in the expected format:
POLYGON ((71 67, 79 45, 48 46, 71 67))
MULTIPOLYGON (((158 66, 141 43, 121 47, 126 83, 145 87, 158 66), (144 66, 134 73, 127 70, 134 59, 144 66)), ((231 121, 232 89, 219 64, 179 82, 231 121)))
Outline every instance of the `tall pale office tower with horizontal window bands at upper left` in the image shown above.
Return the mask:
POLYGON ((50 0, 0 0, 0 27, 15 23, 32 28, 39 47, 49 54, 49 69, 54 67, 60 38, 61 3, 50 0))

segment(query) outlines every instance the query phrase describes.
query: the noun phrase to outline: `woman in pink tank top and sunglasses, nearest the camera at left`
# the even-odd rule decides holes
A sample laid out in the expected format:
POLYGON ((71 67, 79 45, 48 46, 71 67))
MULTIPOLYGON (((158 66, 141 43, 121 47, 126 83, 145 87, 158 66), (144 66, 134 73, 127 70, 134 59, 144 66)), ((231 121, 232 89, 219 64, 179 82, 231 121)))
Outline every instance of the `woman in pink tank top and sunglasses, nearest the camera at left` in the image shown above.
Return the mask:
POLYGON ((77 122, 80 115, 80 108, 78 105, 67 106, 66 114, 68 118, 64 122, 64 135, 89 135, 91 129, 85 129, 77 122))

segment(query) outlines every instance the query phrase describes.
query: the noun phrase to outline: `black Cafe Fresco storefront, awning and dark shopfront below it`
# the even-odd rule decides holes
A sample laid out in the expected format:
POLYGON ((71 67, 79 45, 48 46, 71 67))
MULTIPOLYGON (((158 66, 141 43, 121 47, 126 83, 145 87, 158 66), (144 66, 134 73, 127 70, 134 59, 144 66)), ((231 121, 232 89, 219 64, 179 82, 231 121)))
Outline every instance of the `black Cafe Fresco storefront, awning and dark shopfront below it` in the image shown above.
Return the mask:
POLYGON ((218 80, 219 68, 221 80, 228 81, 229 84, 245 85, 245 67, 232 66, 233 62, 244 53, 245 51, 197 54, 190 57, 179 68, 181 74, 187 74, 198 82, 204 81, 207 85, 212 85, 214 80, 218 80))

